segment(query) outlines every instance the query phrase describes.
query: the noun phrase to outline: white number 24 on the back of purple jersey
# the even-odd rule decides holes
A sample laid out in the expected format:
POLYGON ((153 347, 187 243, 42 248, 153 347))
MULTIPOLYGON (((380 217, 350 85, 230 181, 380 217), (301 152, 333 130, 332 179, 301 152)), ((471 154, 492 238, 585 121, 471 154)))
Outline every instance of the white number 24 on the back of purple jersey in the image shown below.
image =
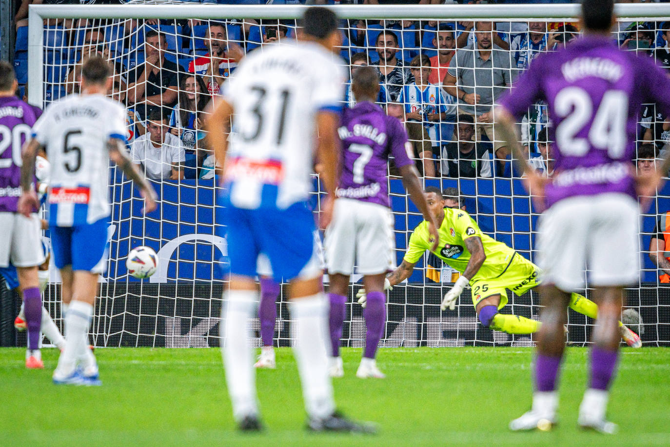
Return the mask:
POLYGON ((584 88, 563 88, 555 99, 556 114, 563 121, 556 128, 556 143, 563 155, 586 155, 589 146, 607 150, 611 159, 620 159, 626 150, 626 112, 628 97, 621 90, 608 90, 602 95, 594 115, 593 101, 584 88), (577 137, 586 123, 593 119, 588 138, 577 137), (590 143, 590 145, 589 145, 590 143))

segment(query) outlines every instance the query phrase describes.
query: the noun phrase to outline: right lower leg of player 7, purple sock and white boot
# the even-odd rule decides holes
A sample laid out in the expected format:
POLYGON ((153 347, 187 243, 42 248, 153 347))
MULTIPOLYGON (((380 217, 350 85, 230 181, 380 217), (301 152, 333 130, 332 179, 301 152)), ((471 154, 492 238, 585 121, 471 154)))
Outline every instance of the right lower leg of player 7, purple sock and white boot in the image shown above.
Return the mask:
POLYGON ((386 294, 383 292, 385 277, 385 273, 363 277, 363 284, 367 291, 366 305, 363 310, 366 326, 365 350, 358 371, 356 371, 356 377, 361 379, 366 377, 383 379, 385 377, 375 362, 379 340, 384 334, 386 324, 386 294))

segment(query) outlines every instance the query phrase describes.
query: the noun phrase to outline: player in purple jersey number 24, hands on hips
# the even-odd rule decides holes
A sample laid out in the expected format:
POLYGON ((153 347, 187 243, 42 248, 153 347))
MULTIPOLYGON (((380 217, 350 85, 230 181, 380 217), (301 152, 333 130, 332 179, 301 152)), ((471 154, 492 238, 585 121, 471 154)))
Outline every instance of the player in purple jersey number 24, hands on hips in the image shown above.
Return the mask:
POLYGON ((618 50, 610 35, 616 25, 613 9, 612 0, 584 0, 584 37, 539 56, 496 110, 503 138, 525 165, 531 194, 548 206, 537 242, 546 307, 537 338, 533 407, 510 423, 511 430, 547 430, 556 422, 565 305, 570 292, 584 287, 584 265, 598 319, 578 424, 604 433, 616 430, 605 413, 620 344, 623 289, 639 277, 636 198, 655 191, 660 179, 658 173, 635 176, 637 116, 642 103, 656 103, 663 116, 670 115, 670 80, 650 58, 618 50), (550 138, 555 170, 549 180, 524 162, 513 129, 540 100, 547 101, 555 126, 555 138, 550 138))

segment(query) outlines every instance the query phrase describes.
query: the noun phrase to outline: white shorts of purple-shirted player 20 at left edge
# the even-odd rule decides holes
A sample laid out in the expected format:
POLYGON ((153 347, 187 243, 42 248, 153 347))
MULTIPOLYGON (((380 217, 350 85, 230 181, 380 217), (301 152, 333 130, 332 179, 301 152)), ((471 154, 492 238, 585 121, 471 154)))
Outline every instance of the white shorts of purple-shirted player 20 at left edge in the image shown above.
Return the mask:
POLYGON ((42 224, 36 213, 0 212, 0 267, 35 267, 44 263, 42 224))

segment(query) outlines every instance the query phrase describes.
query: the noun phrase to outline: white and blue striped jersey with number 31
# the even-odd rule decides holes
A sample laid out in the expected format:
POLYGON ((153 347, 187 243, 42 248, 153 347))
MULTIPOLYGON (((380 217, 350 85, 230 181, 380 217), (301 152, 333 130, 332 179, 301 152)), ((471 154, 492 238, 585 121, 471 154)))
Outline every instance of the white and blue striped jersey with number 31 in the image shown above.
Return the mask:
POLYGON ((252 52, 221 87, 232 105, 224 198, 238 208, 308 200, 319 111, 339 113, 344 61, 308 42, 252 52))

